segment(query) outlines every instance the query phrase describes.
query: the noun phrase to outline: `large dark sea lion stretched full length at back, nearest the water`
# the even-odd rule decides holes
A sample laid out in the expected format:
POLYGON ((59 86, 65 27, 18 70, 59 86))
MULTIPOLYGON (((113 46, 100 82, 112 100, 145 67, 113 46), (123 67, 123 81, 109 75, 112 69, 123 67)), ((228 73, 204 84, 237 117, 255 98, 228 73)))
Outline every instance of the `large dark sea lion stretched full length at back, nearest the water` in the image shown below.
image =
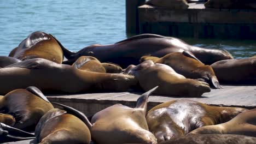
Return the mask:
POLYGON ((203 49, 191 46, 184 41, 156 34, 141 34, 119 41, 112 45, 91 45, 78 52, 71 52, 62 47, 68 61, 73 64, 80 56, 93 56, 101 62, 112 62, 126 68, 130 64, 139 64, 145 55, 163 57, 171 52, 190 51, 204 64, 212 64, 223 59, 232 59, 228 51, 203 49))

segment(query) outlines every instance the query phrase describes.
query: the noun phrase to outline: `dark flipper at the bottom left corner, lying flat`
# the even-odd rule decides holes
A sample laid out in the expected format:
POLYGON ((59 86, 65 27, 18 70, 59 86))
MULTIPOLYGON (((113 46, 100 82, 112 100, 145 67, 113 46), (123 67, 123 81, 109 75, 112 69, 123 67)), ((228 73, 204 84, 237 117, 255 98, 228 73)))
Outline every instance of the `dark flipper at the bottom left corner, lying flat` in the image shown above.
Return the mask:
POLYGON ((27 140, 36 138, 31 133, 10 127, 9 125, 3 123, 0 123, 0 136, 5 136, 13 140, 27 140))

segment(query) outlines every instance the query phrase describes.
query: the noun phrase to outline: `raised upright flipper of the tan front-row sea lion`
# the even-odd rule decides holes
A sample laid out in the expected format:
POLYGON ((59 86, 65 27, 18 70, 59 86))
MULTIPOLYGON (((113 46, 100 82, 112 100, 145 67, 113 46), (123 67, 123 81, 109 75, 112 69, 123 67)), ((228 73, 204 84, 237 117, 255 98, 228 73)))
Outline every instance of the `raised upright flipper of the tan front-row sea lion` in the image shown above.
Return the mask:
POLYGON ((144 111, 144 113, 145 113, 145 115, 146 115, 147 104, 148 104, 148 97, 149 97, 149 95, 152 94, 152 93, 155 91, 155 89, 157 89, 157 88, 158 88, 158 86, 156 86, 156 87, 150 89, 150 90, 149 90, 148 92, 146 92, 146 93, 143 93, 143 94, 141 95, 141 97, 139 97, 139 98, 137 99, 136 109, 143 109, 143 111, 144 111))

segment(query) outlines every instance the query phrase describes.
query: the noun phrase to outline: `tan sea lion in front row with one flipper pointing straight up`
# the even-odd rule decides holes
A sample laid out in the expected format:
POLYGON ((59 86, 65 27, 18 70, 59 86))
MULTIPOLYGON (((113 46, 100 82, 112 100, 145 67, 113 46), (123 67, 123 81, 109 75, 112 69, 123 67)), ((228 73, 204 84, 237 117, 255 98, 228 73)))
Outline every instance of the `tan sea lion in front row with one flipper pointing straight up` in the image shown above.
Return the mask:
POLYGON ((92 139, 98 144, 145 143, 155 144, 155 136, 148 131, 146 121, 147 100, 157 87, 137 99, 135 108, 115 104, 91 119, 88 126, 92 139), (110 139, 114 137, 114 139, 110 139))

